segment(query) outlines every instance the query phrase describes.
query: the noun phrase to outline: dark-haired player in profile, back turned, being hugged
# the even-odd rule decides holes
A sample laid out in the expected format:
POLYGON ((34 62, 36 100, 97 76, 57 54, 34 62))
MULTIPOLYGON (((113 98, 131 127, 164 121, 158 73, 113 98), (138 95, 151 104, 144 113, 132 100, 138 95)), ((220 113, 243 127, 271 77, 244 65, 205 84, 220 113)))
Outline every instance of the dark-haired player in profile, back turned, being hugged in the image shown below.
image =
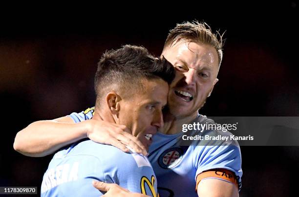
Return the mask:
MULTIPOLYGON (((152 136, 163 126, 162 108, 174 75, 171 63, 154 58, 144 47, 125 45, 106 52, 95 75, 97 97, 92 121, 126 125, 130 134, 148 147, 152 136)), ((147 157, 88 138, 54 155, 43 176, 41 194, 102 196, 92 186, 92 180, 115 183, 151 197, 158 195, 157 178, 147 157)))

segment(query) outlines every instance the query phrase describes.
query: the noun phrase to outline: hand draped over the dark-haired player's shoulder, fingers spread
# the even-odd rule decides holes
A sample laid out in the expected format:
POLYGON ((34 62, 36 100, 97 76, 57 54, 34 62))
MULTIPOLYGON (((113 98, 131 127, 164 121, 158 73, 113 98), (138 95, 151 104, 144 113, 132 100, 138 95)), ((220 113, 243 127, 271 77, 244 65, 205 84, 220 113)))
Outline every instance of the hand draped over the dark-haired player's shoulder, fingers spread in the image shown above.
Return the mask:
POLYGON ((108 144, 128 152, 125 145, 131 147, 136 153, 146 156, 147 150, 139 139, 131 135, 125 125, 117 125, 104 120, 89 119, 82 123, 87 125, 87 138, 92 141, 108 144))

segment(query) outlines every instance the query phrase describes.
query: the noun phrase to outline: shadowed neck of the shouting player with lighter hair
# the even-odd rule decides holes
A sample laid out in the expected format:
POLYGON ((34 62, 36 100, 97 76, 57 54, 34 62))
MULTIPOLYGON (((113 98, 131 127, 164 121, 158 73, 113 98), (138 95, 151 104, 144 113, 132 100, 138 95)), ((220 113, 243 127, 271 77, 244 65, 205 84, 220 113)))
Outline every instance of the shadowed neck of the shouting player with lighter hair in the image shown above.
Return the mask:
POLYGON ((192 122, 196 116, 197 112, 188 117, 175 117, 170 112, 166 112, 163 114, 164 126, 160 132, 168 135, 181 133, 183 124, 192 122))

